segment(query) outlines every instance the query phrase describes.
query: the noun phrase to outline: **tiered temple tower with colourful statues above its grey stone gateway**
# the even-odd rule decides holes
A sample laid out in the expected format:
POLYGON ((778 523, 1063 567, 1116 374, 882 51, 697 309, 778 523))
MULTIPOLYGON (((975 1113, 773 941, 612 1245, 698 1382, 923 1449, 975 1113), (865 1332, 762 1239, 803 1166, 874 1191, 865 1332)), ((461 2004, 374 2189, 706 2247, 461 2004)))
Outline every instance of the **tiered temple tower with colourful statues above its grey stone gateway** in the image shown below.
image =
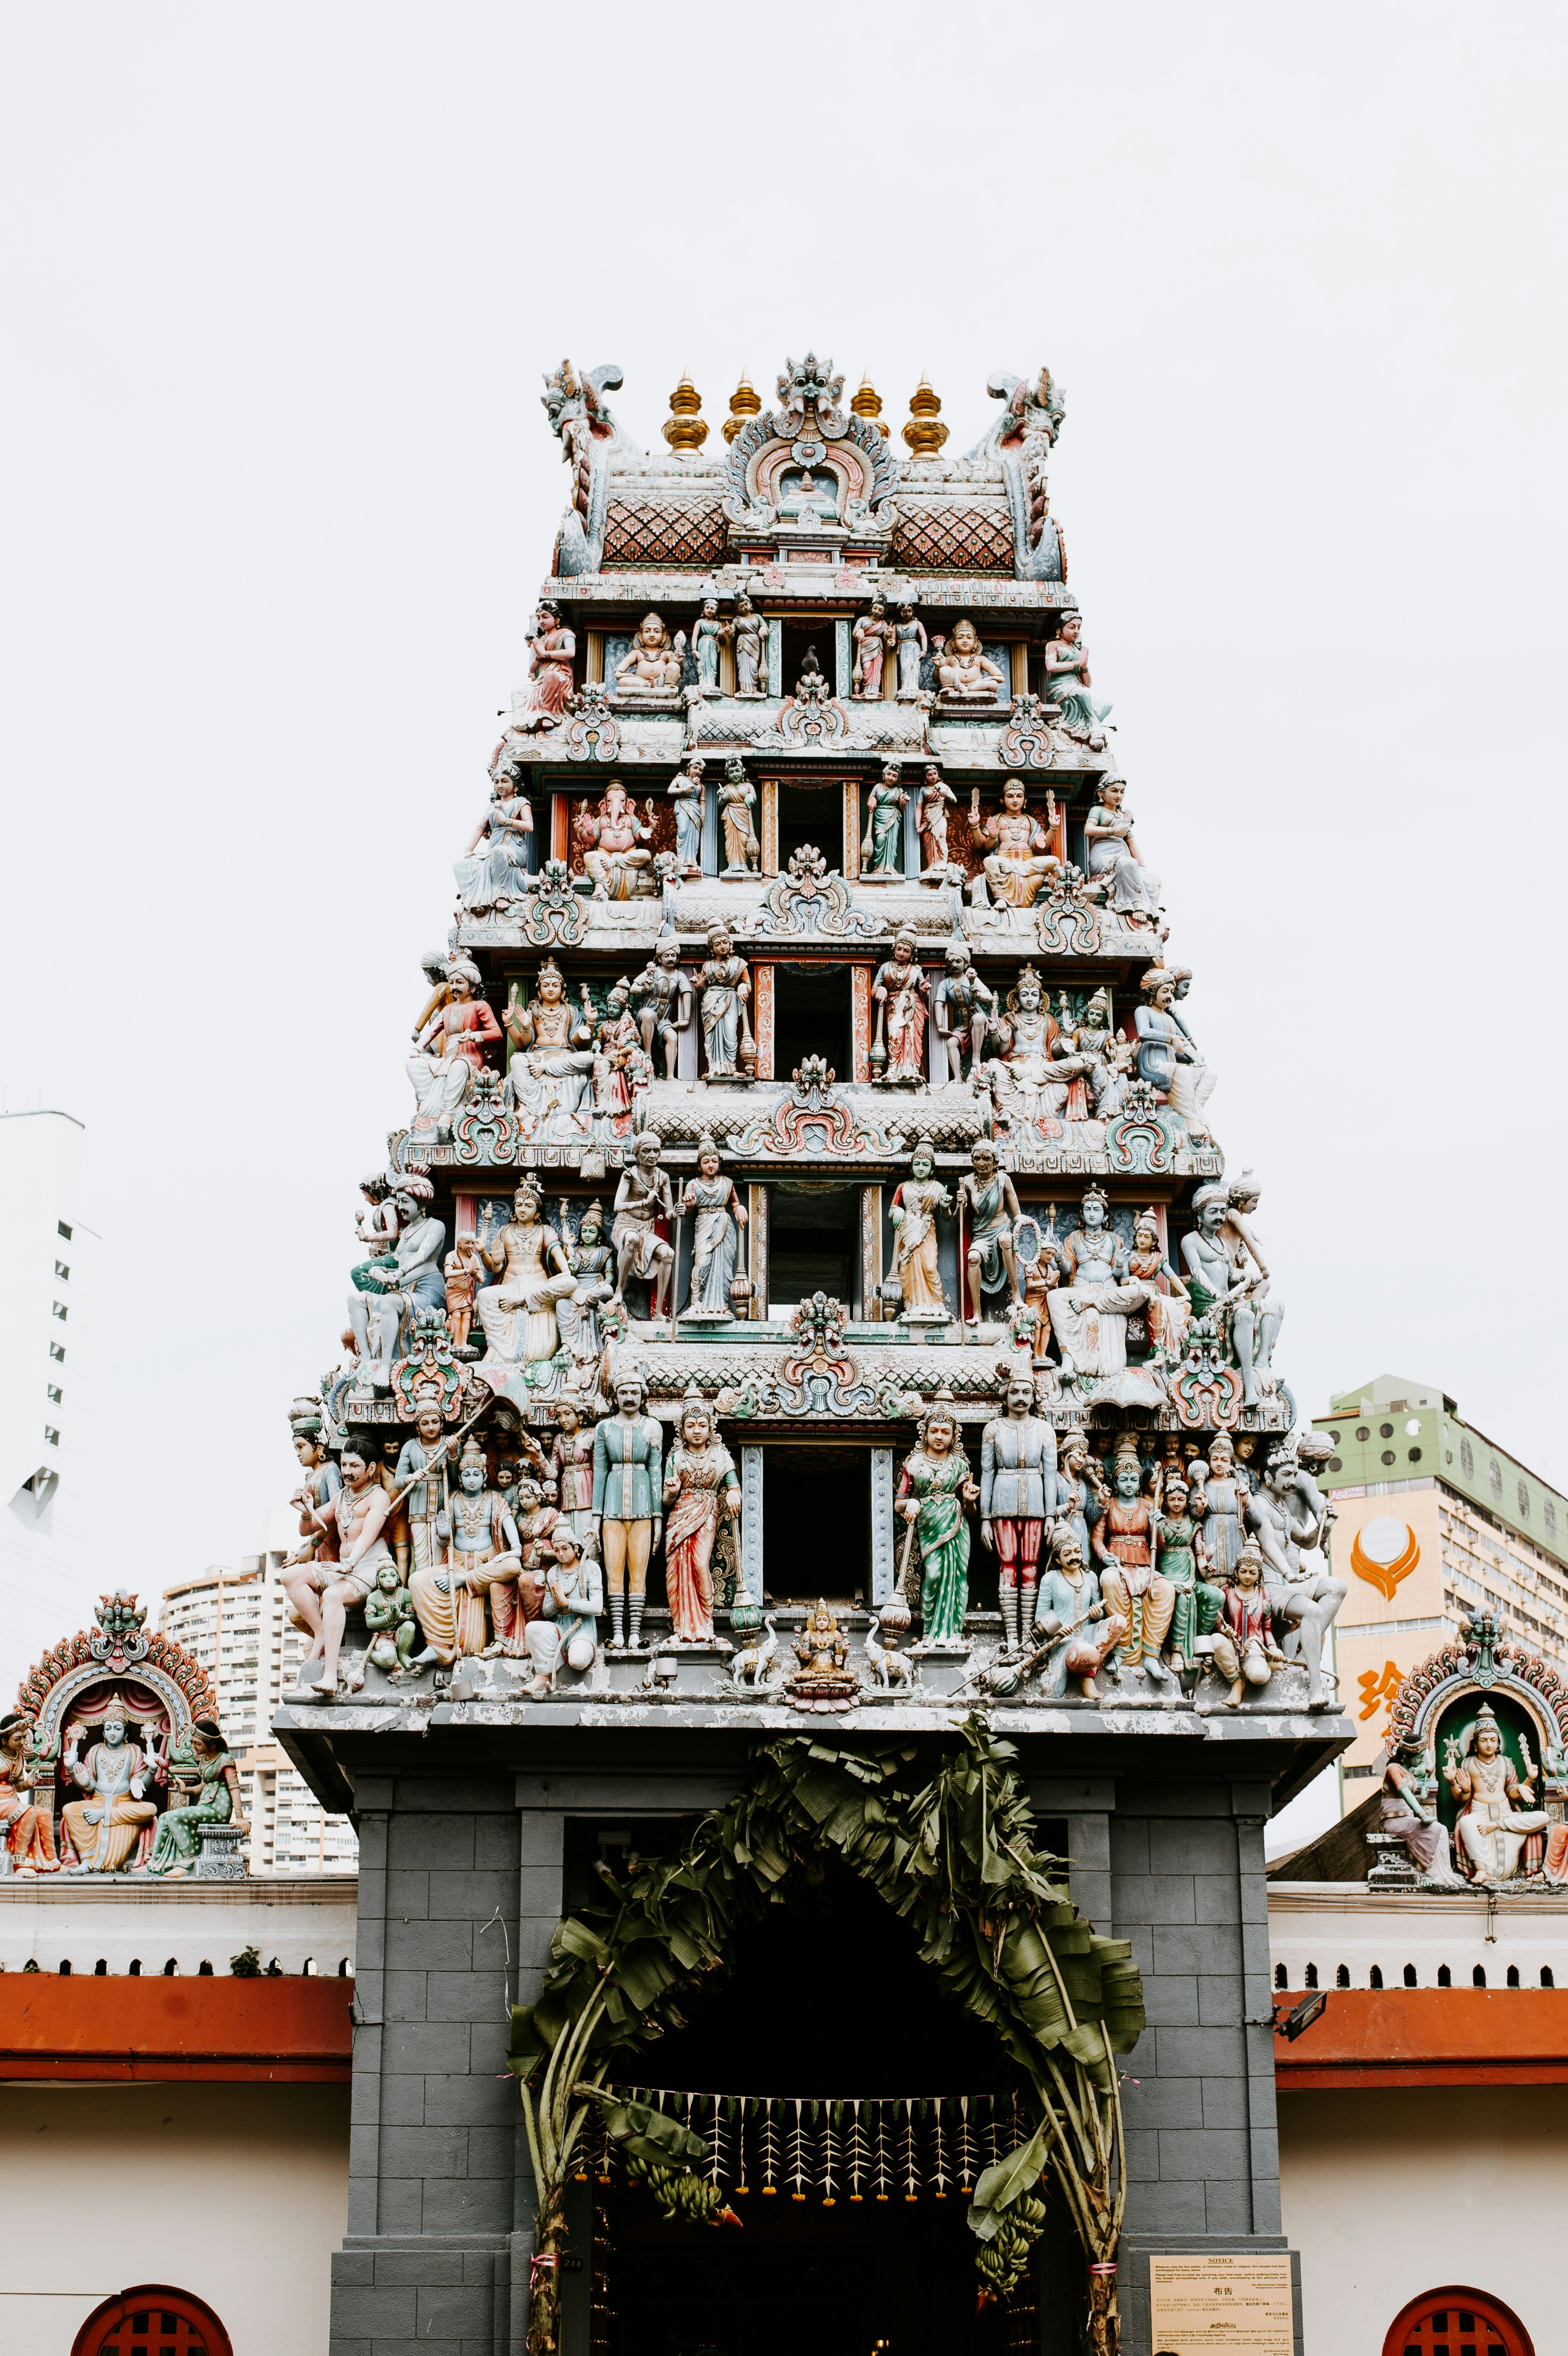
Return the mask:
POLYGON ((275 1729, 360 1835, 334 2349, 1149 2356, 1172 2259, 1290 2332, 1328 1442, 1062 391, 949 457, 923 384, 904 455, 808 356, 650 455, 619 384, 546 379, 530 681, 292 1409, 275 1729))

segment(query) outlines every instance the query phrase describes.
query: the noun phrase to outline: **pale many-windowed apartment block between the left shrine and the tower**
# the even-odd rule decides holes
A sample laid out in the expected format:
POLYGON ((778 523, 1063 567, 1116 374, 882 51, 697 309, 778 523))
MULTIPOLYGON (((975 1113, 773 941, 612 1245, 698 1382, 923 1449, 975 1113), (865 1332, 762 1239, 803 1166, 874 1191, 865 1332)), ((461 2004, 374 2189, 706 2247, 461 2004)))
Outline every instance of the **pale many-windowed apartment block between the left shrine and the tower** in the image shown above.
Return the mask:
POLYGON ((278 1586, 283 1550, 214 1562, 165 1588, 158 1626, 202 1663, 219 1725, 240 1762, 252 1873, 353 1873, 358 1842, 346 1816, 327 1816, 311 1786, 271 1739, 273 1710, 292 1685, 306 1637, 290 1626, 278 1586))

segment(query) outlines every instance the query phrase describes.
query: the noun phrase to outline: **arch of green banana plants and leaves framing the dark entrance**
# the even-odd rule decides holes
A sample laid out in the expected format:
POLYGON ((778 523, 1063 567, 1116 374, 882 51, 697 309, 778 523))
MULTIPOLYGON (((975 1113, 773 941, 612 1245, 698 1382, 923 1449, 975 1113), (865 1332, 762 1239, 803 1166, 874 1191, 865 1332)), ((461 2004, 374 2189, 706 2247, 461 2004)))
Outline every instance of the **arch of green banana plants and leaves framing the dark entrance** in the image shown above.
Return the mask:
MULTIPOLYGON (((1034 1847, 1015 1755, 979 1718, 956 1727, 935 1774, 930 1748, 782 1736, 758 1746, 746 1786, 680 1854, 626 1882, 600 1866, 607 1904, 558 1925, 537 2003, 513 2007, 509 2064, 537 2186, 530 2356, 560 2349, 563 2193, 586 2165, 577 2151, 591 2125, 666 2215, 739 2222, 709 2142, 605 2080, 617 2059, 678 2026, 692 1981, 727 1970, 735 1927, 822 1849, 913 1925, 921 1960, 989 2024, 1026 2087, 1017 2127, 970 2198, 982 2302, 1019 2281, 1045 2224, 1036 2186, 1050 2175, 1090 2262, 1090 2347, 1116 2356, 1125 2170, 1114 2057, 1142 2036, 1144 1996, 1130 1944, 1097 1937, 1034 1847)), ((770 2113, 763 2191, 777 2179, 777 2127, 796 2125, 770 2113)), ((871 2175, 902 2163, 913 2182, 913 2139, 885 2156, 881 2144, 878 2106, 871 2175)))

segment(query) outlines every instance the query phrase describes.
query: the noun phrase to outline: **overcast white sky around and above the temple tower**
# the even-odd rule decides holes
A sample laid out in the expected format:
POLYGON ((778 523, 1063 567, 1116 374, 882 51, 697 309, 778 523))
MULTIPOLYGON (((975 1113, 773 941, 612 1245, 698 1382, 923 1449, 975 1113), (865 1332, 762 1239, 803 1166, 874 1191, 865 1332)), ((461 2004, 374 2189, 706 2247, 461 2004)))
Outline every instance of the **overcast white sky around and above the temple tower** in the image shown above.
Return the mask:
POLYGON ((563 353, 643 441, 683 368, 713 434, 808 344, 895 434, 928 370, 958 450, 1052 365, 1302 1414, 1394 1369, 1568 1482, 1561 7, 0 38, 0 1081, 85 1119, 106 1239, 61 1630, 275 1529, 525 669, 563 353))

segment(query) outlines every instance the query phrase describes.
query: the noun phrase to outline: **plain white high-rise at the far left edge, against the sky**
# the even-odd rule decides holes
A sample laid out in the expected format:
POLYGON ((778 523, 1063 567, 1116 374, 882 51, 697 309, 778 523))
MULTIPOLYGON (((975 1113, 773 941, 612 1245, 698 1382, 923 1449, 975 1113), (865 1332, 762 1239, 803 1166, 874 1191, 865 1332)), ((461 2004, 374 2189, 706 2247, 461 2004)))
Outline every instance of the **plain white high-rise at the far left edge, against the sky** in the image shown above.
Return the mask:
POLYGON ((99 1237, 80 1159, 71 1112, 0 1112, 0 1609, 24 1659, 59 1640, 92 1569, 80 1468, 99 1237))

